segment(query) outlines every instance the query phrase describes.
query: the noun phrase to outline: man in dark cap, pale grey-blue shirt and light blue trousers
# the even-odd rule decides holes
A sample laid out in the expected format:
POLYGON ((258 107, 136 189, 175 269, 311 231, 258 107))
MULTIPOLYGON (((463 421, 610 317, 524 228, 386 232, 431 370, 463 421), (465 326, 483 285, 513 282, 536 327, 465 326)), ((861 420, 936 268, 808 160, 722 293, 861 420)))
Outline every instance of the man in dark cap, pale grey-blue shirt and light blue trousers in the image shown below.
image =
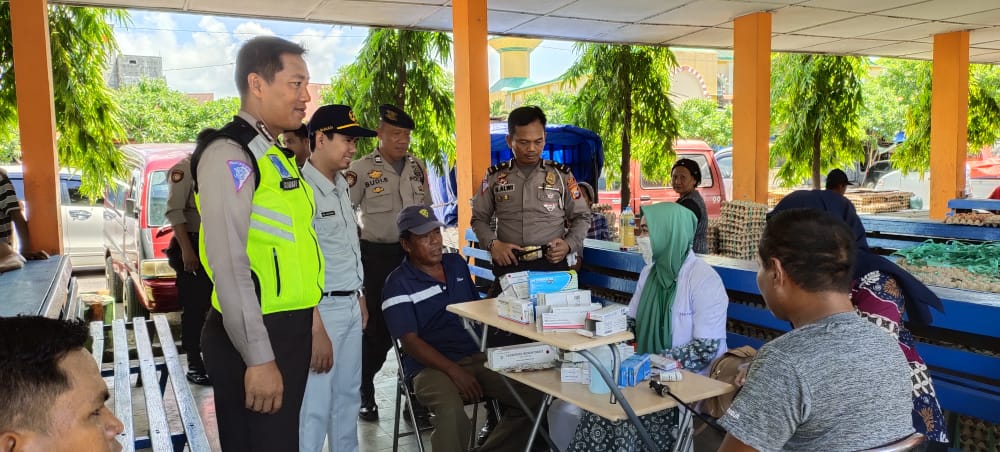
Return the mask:
POLYGON ((313 317, 313 359, 302 402, 299 450, 358 450, 361 331, 368 317, 360 296, 364 275, 358 223, 343 170, 357 142, 375 131, 358 124, 347 105, 324 105, 309 120, 313 154, 302 177, 313 189, 313 226, 326 260, 323 299, 313 317), (332 367, 332 370, 331 370, 332 367), (346 421, 345 421, 346 420, 346 421))

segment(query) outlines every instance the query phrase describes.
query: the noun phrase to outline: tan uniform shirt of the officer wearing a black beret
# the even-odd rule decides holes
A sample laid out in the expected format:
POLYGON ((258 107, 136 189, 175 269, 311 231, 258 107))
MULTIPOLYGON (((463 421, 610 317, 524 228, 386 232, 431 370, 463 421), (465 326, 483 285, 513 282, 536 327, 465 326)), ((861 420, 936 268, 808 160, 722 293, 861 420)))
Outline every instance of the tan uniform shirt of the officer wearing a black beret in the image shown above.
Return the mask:
POLYGON ((403 156, 403 172, 396 170, 378 152, 351 162, 344 176, 350 186, 351 204, 361 219, 361 240, 396 243, 396 215, 404 207, 431 204, 427 169, 413 155, 403 156))

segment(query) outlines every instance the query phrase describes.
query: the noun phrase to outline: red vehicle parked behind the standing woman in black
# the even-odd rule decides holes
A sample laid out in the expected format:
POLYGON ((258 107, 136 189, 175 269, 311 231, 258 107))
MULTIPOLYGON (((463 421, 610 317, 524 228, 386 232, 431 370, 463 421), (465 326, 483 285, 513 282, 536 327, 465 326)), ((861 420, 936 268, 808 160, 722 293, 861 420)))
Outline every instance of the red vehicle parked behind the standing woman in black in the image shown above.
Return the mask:
MULTIPOLYGON (((700 140, 677 140, 674 142, 674 152, 678 159, 686 158, 698 162, 701 166, 701 184, 698 185, 698 192, 705 199, 705 208, 709 217, 719 216, 722 210, 722 201, 726 200, 725 183, 719 165, 715 161, 715 152, 704 141, 700 140)), ((656 181, 650 180, 639 168, 639 162, 633 160, 629 165, 631 176, 629 178, 632 200, 629 203, 635 210, 639 206, 645 206, 662 201, 676 201, 679 196, 670 187, 670 180, 656 181)), ((601 178, 598 188, 598 203, 611 205, 611 210, 621 211, 621 190, 617 184, 607 185, 604 178, 601 178)))

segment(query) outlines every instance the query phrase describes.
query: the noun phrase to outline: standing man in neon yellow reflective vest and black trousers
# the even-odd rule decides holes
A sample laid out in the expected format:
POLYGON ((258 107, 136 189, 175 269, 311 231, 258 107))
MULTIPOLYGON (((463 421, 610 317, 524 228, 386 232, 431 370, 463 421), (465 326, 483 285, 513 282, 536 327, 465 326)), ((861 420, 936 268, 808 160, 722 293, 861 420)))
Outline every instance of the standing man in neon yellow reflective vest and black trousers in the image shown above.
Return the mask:
POLYGON ((275 137, 305 117, 298 44, 247 41, 236 57, 240 112, 199 135, 192 156, 202 264, 215 284, 202 350, 227 451, 298 450, 323 257, 312 190, 275 137))

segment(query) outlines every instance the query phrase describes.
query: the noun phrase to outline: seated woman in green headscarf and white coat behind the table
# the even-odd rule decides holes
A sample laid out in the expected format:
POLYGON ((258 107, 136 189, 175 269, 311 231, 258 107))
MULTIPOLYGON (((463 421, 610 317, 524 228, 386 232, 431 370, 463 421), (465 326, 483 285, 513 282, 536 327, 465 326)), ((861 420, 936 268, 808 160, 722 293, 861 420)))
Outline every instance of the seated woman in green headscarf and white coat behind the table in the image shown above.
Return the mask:
MULTIPOLYGON (((715 270, 691 250, 698 220, 690 210, 664 202, 642 211, 637 242, 646 266, 628 310, 635 319, 636 351, 660 353, 691 372, 707 374, 712 360, 726 351, 726 288, 715 270)), ((592 378, 599 377, 592 374, 592 378)), ((673 447, 677 409, 640 420, 663 450, 673 447)), ((560 450, 644 449, 631 423, 610 422, 561 401, 549 409, 549 431, 560 450)))

